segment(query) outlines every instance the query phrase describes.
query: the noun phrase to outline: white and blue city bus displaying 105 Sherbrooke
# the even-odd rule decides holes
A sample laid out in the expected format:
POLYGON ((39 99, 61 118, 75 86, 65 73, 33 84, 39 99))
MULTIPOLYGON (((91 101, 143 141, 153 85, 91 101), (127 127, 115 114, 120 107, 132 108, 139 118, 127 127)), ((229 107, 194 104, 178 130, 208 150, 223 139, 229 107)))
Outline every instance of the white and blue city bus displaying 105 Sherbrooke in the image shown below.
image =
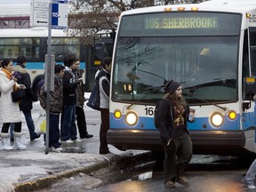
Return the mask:
POLYGON ((196 111, 188 123, 195 154, 255 153, 254 76, 255 1, 123 12, 113 52, 108 144, 162 151, 154 110, 173 79, 196 111))

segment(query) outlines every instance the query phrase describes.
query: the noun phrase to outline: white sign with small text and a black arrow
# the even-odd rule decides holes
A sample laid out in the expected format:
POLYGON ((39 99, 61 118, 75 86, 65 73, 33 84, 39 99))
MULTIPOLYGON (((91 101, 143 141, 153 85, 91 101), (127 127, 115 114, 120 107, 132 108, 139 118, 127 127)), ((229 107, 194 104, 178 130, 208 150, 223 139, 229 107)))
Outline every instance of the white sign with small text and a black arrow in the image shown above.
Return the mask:
POLYGON ((30 25, 47 27, 49 21, 50 0, 31 0, 30 25))

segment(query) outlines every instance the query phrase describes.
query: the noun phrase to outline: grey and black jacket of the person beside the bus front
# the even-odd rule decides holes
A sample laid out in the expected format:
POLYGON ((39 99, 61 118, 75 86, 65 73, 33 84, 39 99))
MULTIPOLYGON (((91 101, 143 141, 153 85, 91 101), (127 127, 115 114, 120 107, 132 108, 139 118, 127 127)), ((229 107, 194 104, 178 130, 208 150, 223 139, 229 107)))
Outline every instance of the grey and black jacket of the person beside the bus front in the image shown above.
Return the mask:
POLYGON ((110 92, 110 74, 102 68, 100 72, 96 73, 96 77, 99 78, 99 85, 100 85, 100 108, 109 108, 109 92, 110 92))

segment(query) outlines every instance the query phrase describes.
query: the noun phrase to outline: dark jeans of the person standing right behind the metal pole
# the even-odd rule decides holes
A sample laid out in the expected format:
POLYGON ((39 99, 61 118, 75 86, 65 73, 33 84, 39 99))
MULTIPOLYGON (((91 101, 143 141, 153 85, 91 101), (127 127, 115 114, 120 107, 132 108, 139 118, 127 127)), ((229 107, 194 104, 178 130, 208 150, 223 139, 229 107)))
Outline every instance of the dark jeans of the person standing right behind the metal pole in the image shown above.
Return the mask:
MULTIPOLYGON (((49 119, 49 148, 60 148, 61 143, 60 140, 60 115, 59 114, 52 114, 50 113, 49 119)), ((44 134, 44 141, 45 141, 45 134, 44 134)))

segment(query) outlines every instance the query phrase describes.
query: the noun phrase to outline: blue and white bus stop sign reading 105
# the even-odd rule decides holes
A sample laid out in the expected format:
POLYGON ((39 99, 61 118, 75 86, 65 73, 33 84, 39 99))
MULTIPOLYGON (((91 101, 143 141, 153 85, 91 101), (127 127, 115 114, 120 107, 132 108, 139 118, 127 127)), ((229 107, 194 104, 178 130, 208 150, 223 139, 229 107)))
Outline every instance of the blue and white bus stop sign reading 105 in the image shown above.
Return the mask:
POLYGON ((52 4, 52 28, 68 28, 68 1, 52 4))

